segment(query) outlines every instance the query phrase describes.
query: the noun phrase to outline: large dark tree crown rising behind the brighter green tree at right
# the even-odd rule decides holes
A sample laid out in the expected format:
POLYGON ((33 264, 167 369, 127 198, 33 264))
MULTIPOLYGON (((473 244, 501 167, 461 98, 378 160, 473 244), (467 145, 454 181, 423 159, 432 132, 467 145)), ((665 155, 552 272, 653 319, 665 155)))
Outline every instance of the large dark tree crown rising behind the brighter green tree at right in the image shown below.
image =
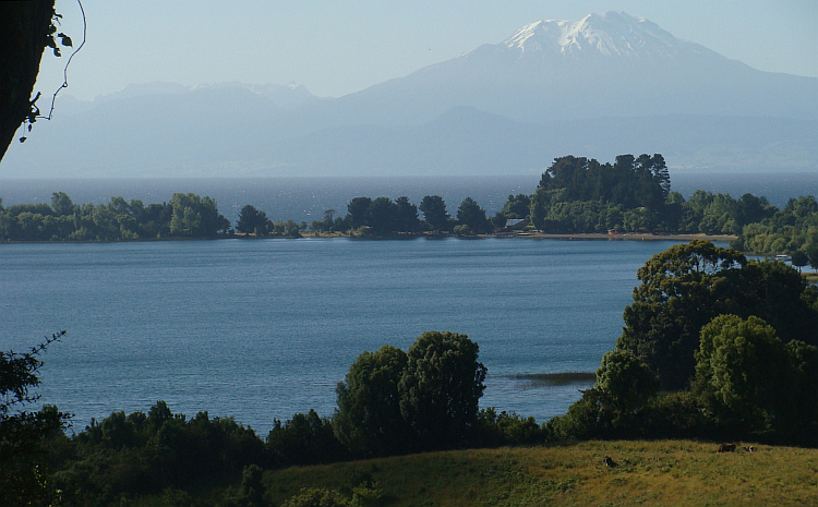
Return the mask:
POLYGON ((640 358, 665 389, 687 386, 699 331, 721 314, 756 315, 785 341, 818 342, 816 289, 782 263, 747 262, 735 250, 695 240, 654 255, 637 276, 617 348, 640 358))

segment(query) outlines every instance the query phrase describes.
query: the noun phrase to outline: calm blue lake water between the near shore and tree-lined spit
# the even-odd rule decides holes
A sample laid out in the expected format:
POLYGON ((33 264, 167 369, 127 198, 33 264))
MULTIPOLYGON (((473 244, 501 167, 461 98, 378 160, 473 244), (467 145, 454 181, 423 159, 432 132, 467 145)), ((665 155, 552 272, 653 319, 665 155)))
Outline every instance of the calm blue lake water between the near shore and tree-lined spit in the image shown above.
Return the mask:
POLYGON ((528 239, 217 240, 0 245, 0 349, 68 330, 45 354, 43 402, 82 428, 113 410, 332 415, 356 357, 425 330, 469 335, 481 407, 564 413, 569 385, 622 331, 636 269, 673 242, 528 239))

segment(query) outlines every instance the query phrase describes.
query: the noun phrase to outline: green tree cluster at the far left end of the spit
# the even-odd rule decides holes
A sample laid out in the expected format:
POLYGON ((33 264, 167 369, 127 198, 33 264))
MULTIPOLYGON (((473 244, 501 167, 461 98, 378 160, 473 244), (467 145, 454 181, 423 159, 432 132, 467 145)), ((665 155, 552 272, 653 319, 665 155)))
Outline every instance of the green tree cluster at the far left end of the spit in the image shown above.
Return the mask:
POLYGON ((196 194, 173 194, 169 203, 148 204, 112 197, 108 204, 77 205, 64 192, 51 204, 0 201, 2 241, 119 241, 157 238, 214 238, 230 228, 216 201, 196 194))

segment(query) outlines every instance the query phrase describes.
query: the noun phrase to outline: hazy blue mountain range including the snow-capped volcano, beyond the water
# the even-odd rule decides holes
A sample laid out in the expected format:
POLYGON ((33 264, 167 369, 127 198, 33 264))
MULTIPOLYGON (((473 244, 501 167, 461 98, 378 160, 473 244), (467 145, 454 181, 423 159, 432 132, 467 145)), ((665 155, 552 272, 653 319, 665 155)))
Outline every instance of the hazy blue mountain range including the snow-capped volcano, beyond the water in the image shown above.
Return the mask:
POLYGON ((339 98, 297 85, 61 98, 0 177, 539 173, 554 157, 815 170, 818 79, 769 73, 624 13, 540 21, 339 98), (36 137, 36 142, 34 142, 36 137))

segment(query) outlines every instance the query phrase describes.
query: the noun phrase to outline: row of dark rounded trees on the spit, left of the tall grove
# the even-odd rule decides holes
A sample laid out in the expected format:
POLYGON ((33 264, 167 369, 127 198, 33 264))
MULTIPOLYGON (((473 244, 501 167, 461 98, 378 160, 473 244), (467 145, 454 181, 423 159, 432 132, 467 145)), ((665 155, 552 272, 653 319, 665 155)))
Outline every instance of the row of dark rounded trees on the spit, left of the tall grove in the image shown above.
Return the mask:
POLYGON ((335 214, 335 209, 326 210, 324 219, 313 221, 311 229, 320 232, 356 231, 362 236, 378 237, 422 231, 469 236, 488 233, 494 229, 485 210, 471 197, 466 197, 460 203, 457 218, 449 216, 446 203, 440 195, 426 195, 420 206, 410 203, 406 196, 394 202, 389 197, 354 197, 347 205, 346 216, 336 217, 335 214), (419 209, 423 213, 423 220, 420 219, 419 209))

